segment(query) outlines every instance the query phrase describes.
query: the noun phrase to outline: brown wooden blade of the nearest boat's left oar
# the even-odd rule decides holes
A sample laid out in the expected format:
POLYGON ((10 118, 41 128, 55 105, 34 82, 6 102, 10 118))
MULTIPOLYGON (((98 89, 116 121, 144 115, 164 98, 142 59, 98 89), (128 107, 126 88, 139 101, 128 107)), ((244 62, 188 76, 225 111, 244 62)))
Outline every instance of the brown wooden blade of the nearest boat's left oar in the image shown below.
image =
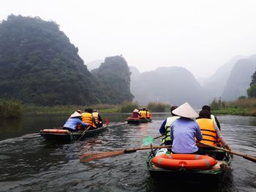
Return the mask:
POLYGON ((80 162, 84 163, 84 162, 94 161, 100 158, 114 157, 122 154, 124 154, 124 150, 116 150, 116 151, 108 151, 108 152, 100 152, 100 153, 87 153, 80 156, 80 162))

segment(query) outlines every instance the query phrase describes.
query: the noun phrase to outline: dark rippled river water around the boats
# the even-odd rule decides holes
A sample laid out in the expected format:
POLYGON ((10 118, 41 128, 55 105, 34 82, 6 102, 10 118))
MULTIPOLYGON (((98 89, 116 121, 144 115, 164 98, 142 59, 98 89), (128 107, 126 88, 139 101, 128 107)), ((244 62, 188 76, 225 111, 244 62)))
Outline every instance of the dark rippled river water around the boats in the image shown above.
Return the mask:
MULTIPOLYGON (((96 137, 60 145, 45 141, 39 130, 60 127, 67 116, 23 117, 0 123, 0 191, 182 191, 176 183, 157 183, 146 168, 148 150, 80 163, 79 155, 140 147, 143 138, 159 136, 168 113, 153 113, 152 123, 131 125, 129 114, 102 114, 107 131, 96 137)), ((217 116, 233 151, 256 155, 256 118, 217 116)), ((154 145, 159 145, 159 139, 154 145)), ((208 189, 185 186, 184 191, 256 191, 256 164, 234 157, 228 177, 208 189)))

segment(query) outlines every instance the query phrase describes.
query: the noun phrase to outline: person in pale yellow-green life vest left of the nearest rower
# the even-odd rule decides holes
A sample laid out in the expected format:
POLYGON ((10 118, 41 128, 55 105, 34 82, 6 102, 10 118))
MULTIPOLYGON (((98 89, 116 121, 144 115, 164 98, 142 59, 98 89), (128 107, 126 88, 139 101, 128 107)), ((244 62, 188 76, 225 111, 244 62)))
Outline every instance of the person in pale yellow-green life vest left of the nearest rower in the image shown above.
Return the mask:
POLYGON ((164 122, 162 123, 162 126, 159 128, 160 134, 162 136, 165 136, 162 138, 162 143, 165 145, 172 145, 173 141, 170 140, 170 124, 173 123, 174 120, 178 119, 179 117, 175 114, 173 114, 173 110, 175 110, 178 106, 173 105, 170 107, 170 114, 172 117, 166 118, 164 122))

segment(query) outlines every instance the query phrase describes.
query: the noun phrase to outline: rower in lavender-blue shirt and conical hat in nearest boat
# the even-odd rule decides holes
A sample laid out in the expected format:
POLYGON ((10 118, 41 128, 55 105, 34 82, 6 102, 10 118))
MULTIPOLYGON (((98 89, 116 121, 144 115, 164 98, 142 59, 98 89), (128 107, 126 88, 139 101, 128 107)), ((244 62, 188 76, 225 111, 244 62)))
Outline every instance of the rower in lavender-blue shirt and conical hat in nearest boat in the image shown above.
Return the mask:
POLYGON ((204 151, 200 150, 197 141, 201 141, 203 136, 200 128, 195 120, 198 114, 186 102, 180 107, 173 110, 173 114, 178 115, 180 118, 176 119, 170 125, 170 139, 173 140, 172 153, 194 153, 204 155, 204 151))

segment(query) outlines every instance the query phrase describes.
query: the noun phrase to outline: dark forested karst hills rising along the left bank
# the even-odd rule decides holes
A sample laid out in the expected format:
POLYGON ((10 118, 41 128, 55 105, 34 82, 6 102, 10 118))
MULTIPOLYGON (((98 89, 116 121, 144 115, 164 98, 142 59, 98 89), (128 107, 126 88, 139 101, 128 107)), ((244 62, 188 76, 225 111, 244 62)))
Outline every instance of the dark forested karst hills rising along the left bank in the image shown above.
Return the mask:
POLYGON ((54 22, 10 15, 0 23, 1 99, 37 105, 108 104, 131 99, 129 69, 127 72, 121 68, 125 72, 113 75, 108 70, 121 72, 121 69, 116 71, 118 61, 107 58, 105 62, 107 65, 99 69, 95 78, 83 64, 78 48, 54 22), (114 67, 108 69, 112 61, 114 67), (110 80, 114 79, 113 75, 126 81, 120 85, 118 80, 112 83, 107 81, 108 74, 110 80), (121 96, 117 96, 120 93, 117 87, 124 91, 121 96))

